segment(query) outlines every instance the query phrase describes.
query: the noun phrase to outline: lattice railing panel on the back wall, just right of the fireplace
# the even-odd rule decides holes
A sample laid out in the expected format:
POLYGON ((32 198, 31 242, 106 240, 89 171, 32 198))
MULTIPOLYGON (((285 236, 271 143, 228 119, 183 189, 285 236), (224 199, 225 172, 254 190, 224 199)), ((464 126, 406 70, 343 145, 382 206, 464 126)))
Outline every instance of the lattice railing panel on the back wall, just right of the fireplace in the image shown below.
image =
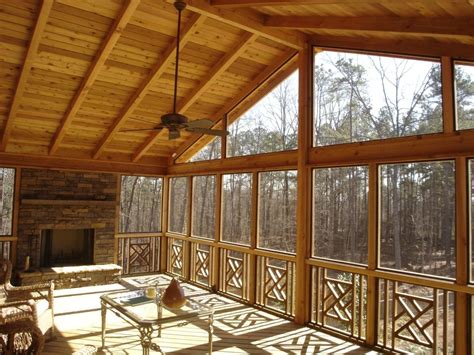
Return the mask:
POLYGON ((122 274, 159 270, 159 237, 119 237, 118 244, 118 261, 122 266, 122 274))

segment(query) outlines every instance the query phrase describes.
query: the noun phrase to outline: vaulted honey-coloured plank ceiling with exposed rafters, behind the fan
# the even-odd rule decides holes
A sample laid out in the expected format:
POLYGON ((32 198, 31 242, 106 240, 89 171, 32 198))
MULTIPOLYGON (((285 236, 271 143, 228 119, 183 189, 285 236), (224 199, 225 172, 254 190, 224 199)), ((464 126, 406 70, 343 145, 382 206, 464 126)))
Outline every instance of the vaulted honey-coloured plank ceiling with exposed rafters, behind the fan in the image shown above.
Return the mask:
MULTIPOLYGON (((0 0, 0 156, 166 166, 184 152, 199 137, 123 132, 172 109, 172 3, 0 0)), ((474 0, 187 3, 178 110, 191 120, 248 105, 307 41, 427 41, 461 56, 474 45, 474 0)))

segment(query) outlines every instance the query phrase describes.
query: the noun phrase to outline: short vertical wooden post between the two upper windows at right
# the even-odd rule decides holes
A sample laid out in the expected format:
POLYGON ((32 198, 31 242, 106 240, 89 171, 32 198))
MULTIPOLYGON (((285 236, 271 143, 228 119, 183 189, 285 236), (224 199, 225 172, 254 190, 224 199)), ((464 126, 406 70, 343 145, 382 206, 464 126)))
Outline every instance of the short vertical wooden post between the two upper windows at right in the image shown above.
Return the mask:
POLYGON ((454 99, 454 65, 451 57, 441 58, 441 87, 443 97, 443 132, 452 133, 456 129, 456 109, 454 99))

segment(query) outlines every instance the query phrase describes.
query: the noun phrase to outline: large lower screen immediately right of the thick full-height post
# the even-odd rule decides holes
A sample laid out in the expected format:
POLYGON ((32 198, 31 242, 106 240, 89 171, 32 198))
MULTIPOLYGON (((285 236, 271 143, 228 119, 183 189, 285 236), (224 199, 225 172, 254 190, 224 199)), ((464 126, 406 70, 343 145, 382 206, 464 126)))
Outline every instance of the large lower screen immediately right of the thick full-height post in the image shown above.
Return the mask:
POLYGON ((314 169, 313 256, 367 264, 366 166, 314 169))

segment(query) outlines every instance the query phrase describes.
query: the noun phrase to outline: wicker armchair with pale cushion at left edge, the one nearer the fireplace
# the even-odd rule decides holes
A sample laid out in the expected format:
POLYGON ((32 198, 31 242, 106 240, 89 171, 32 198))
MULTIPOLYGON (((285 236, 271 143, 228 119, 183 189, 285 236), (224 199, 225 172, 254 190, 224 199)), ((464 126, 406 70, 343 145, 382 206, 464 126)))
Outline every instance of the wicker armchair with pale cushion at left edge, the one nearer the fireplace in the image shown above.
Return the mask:
MULTIPOLYGON (((12 265, 9 260, 0 261, 0 323, 8 321, 12 306, 19 307, 21 319, 30 319, 43 335, 49 331, 54 337, 54 284, 44 283, 13 286, 10 282, 12 265)), ((14 314, 15 312, 13 312, 14 314)), ((15 318, 15 315, 13 315, 15 318)))

